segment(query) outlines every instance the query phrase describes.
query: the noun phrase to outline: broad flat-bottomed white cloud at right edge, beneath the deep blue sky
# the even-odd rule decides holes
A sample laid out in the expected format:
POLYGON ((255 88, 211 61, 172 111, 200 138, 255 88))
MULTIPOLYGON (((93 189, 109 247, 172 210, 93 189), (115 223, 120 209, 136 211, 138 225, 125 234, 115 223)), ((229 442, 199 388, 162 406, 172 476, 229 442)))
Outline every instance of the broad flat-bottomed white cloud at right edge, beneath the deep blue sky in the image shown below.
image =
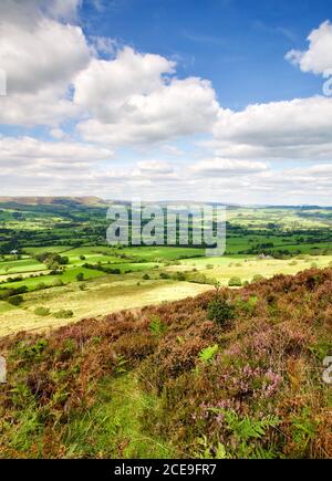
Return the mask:
POLYGON ((317 96, 219 111, 214 128, 224 156, 332 159, 332 98, 317 96))

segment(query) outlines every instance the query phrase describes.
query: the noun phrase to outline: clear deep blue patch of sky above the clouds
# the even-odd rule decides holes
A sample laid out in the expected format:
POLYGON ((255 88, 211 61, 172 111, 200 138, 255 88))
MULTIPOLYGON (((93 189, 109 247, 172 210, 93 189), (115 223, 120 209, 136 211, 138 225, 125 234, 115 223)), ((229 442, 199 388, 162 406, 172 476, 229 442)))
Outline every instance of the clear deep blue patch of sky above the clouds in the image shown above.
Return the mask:
POLYGON ((82 12, 87 34, 178 59, 179 75, 211 80, 235 109, 315 95, 320 79, 284 54, 305 48, 308 33, 331 17, 326 0, 111 0, 82 12))

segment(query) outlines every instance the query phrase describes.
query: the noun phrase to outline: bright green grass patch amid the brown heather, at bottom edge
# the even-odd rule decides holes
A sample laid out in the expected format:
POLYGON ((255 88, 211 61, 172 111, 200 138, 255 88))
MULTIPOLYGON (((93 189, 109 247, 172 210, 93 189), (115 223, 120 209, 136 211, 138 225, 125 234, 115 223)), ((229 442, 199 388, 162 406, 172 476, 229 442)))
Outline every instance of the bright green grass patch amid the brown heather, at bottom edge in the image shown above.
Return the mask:
POLYGON ((142 427, 145 410, 152 412, 157 406, 158 398, 142 391, 133 373, 106 377, 100 384, 95 406, 66 427, 66 457, 174 458, 175 451, 166 440, 149 436, 142 427))

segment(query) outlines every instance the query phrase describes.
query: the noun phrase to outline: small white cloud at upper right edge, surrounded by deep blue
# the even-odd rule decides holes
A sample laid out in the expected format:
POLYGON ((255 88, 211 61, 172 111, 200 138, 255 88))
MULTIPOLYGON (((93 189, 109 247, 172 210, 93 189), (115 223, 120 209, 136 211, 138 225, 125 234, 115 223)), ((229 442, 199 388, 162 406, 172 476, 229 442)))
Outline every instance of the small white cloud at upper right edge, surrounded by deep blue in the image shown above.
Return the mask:
POLYGON ((302 72, 322 74, 332 69, 332 24, 329 20, 319 29, 313 30, 308 36, 309 49, 305 51, 291 50, 286 55, 294 65, 299 65, 302 72))

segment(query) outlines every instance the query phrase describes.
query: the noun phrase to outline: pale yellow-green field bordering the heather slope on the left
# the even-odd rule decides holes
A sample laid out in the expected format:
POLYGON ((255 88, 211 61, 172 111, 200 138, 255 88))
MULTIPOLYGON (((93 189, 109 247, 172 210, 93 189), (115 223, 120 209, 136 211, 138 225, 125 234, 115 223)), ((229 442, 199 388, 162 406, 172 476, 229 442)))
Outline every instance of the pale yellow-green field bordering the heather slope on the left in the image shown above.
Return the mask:
POLYGON ((141 281, 137 276, 126 278, 93 279, 86 284, 85 291, 79 289, 80 283, 72 283, 46 291, 30 292, 24 294, 24 303, 20 307, 0 303, 0 337, 20 331, 49 331, 81 318, 180 300, 211 289, 188 282, 141 281), (137 282, 141 284, 137 285, 137 282), (59 309, 71 310, 74 315, 70 320, 58 320, 52 315, 40 317, 34 314, 35 306, 44 306, 52 312, 59 309))

